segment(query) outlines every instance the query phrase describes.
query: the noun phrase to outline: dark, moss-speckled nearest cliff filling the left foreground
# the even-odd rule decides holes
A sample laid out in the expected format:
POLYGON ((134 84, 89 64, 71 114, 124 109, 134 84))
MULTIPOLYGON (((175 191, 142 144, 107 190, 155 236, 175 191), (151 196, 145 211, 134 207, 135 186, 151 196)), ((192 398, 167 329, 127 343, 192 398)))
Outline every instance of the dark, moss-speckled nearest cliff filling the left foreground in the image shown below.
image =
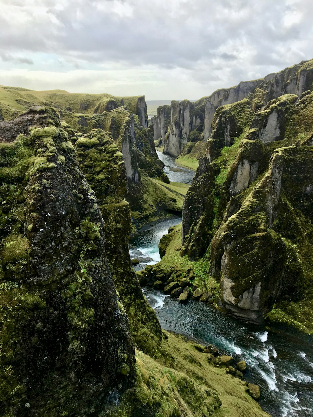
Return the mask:
POLYGON ((0 144, 2 410, 87 416, 129 387, 134 347, 73 145, 53 109, 27 116, 0 144))

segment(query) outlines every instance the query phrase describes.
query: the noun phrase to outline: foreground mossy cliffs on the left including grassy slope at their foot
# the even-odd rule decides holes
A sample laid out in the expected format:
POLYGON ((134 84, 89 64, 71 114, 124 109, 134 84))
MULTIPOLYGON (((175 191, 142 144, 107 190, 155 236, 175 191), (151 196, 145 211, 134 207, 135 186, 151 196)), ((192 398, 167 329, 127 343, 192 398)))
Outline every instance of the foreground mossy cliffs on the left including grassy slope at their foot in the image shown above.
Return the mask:
POLYGON ((265 417, 204 347, 161 332, 131 269, 111 132, 35 107, 0 136, 1 414, 265 417))

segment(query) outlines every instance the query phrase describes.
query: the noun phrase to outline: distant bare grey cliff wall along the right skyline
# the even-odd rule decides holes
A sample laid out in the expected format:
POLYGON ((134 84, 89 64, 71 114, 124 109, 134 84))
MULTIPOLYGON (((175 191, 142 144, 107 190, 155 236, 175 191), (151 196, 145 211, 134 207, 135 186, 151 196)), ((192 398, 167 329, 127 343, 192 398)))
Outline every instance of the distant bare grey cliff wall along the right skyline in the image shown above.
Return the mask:
MULTIPOLYGON (((177 157, 188 141, 211 138, 214 130, 216 110, 221 106, 239 102, 253 93, 250 107, 253 112, 263 110, 270 100, 285 94, 295 94, 298 97, 310 90, 313 82, 313 60, 301 61, 297 65, 285 68, 278 73, 266 75, 258 80, 240 82, 235 87, 214 91, 210 96, 203 97, 194 103, 188 100, 172 102, 172 118, 168 127, 168 135, 164 141, 164 153, 177 157), (181 107, 183 110, 181 110, 181 107), (193 115, 193 111, 196 115, 193 115), (192 131, 199 133, 190 133, 192 131), (202 133, 203 132, 203 133, 202 133), (202 133, 202 134, 201 134, 202 133)), ((275 113, 270 123, 274 123, 275 113)), ((228 133, 226 132, 226 135, 228 133)))

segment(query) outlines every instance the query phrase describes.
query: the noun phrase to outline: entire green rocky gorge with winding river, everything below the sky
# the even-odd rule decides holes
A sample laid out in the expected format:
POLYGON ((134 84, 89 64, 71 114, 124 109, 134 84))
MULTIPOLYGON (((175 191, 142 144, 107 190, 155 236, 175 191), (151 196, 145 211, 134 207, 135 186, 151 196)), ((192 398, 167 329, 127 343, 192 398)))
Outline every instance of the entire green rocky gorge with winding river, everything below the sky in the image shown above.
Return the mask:
POLYGON ((313 60, 147 113, 0 85, 1 415, 310 415, 313 60))

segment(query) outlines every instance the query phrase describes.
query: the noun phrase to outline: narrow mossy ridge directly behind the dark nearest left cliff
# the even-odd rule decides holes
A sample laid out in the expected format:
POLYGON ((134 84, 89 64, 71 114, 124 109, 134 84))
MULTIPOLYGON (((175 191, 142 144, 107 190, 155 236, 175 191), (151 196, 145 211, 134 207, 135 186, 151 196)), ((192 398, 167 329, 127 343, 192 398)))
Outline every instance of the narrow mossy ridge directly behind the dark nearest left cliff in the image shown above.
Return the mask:
POLYGON ((158 355, 161 328, 142 295, 129 258, 131 215, 126 195, 127 179, 122 154, 110 133, 92 130, 75 143, 81 170, 95 191, 105 222, 106 254, 114 284, 129 318, 136 346, 158 355))

